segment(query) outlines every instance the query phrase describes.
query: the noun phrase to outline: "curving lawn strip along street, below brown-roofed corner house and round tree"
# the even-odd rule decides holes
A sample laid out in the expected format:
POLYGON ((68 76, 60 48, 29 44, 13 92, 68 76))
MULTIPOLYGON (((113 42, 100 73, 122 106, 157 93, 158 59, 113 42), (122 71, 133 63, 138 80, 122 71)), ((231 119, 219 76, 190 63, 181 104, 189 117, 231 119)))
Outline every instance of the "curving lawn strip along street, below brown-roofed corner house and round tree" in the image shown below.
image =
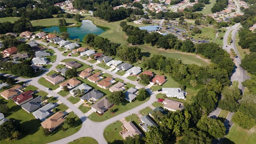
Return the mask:
MULTIPOLYGON (((127 86, 127 85, 126 85, 127 86)), ((143 104, 144 102, 148 101, 150 98, 149 94, 147 93, 147 98, 144 101, 138 101, 135 100, 134 102, 126 102, 125 105, 120 105, 120 106, 116 106, 114 105, 112 107, 112 109, 115 112, 115 114, 110 114, 110 110, 106 111, 102 116, 98 116, 98 114, 96 114, 95 112, 92 113, 89 117, 91 117, 90 119, 95 121, 95 122, 102 122, 104 120, 107 120, 109 118, 112 118, 114 116, 117 116, 118 114, 121 114, 123 112, 126 112, 127 110, 130 110, 132 108, 135 108, 136 106, 139 106, 141 104, 143 104)))

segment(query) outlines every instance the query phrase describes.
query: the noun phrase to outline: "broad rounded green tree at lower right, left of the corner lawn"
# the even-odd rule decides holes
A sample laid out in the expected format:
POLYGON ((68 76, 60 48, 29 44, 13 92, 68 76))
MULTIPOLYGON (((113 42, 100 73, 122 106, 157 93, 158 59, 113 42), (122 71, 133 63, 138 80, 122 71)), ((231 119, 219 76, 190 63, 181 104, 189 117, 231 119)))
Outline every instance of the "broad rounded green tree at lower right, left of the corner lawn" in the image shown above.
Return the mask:
POLYGON ((214 118, 203 116, 197 123, 197 128, 204 132, 208 132, 214 138, 223 138, 226 135, 224 123, 214 118))

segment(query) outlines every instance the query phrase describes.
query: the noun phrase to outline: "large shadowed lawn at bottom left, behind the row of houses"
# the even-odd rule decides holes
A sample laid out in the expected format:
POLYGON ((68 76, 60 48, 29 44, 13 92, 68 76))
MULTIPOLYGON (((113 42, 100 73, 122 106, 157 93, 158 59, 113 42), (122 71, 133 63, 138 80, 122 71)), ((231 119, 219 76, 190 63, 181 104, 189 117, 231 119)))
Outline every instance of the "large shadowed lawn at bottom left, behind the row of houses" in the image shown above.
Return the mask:
POLYGON ((1 144, 42 144, 54 142, 56 140, 60 140, 62 138, 66 138, 70 136, 81 128, 81 120, 71 112, 68 114, 68 117, 75 118, 76 124, 74 128, 68 128, 65 132, 62 131, 62 128, 66 128, 66 124, 57 128, 50 136, 44 136, 43 130, 41 127, 41 121, 37 120, 32 113, 28 114, 25 110, 23 110, 20 106, 16 105, 12 100, 5 100, 4 98, 0 98, 1 104, 7 104, 10 108, 9 112, 4 114, 4 116, 10 120, 15 120, 20 122, 22 131, 19 140, 15 140, 12 142, 8 142, 6 140, 1 140, 1 144))

